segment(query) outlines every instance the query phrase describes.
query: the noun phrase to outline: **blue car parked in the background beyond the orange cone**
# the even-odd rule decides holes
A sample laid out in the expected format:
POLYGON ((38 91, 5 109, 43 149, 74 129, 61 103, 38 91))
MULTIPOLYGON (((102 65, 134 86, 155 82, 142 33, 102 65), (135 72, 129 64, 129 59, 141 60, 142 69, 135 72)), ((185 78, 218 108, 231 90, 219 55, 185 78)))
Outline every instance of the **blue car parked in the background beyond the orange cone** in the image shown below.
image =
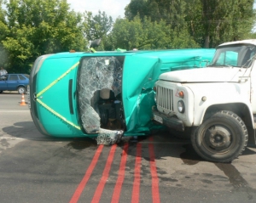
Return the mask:
POLYGON ((29 83, 29 75, 26 74, 6 74, 0 76, 0 93, 3 91, 15 91, 18 93, 26 93, 29 83))

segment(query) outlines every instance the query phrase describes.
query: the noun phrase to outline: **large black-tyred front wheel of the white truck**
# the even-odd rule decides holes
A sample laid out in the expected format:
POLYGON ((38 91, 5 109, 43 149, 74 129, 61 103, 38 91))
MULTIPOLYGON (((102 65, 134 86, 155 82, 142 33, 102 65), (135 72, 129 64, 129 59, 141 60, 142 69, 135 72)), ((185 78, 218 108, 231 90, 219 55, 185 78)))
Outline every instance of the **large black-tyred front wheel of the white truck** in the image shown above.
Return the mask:
POLYGON ((203 121, 191 133, 198 155, 207 161, 230 162, 247 146, 247 127, 239 116, 222 110, 203 121))

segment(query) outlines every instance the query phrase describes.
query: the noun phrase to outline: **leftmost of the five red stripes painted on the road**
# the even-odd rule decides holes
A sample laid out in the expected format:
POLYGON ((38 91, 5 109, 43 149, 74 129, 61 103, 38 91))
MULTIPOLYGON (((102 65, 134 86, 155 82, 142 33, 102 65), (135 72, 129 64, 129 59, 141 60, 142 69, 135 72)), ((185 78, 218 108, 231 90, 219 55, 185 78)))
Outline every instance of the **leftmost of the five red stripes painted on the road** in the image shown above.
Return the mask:
POLYGON ((96 149, 96 153, 92 159, 92 161, 90 162, 90 166, 88 167, 87 171, 85 172, 84 178, 82 179, 81 183, 79 183, 79 187, 76 189, 76 191, 73 194, 72 199, 69 201, 69 203, 76 203, 79 200, 80 195, 82 194, 84 187, 86 185, 86 183, 88 182, 91 173, 93 172, 96 163, 99 159, 99 156, 102 153, 102 149, 103 149, 104 145, 99 145, 99 147, 96 149))

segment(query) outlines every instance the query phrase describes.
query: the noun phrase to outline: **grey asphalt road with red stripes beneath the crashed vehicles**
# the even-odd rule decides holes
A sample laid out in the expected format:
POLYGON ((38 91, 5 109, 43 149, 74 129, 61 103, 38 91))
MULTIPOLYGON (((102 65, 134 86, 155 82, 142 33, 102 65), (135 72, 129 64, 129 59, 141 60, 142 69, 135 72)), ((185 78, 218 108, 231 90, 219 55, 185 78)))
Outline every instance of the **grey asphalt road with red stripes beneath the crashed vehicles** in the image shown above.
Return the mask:
MULTIPOLYGON (((25 95, 26 99, 26 95, 25 95)), ((201 160, 167 133, 97 146, 38 133, 16 93, 0 94, 0 202, 255 202, 256 149, 201 160)))

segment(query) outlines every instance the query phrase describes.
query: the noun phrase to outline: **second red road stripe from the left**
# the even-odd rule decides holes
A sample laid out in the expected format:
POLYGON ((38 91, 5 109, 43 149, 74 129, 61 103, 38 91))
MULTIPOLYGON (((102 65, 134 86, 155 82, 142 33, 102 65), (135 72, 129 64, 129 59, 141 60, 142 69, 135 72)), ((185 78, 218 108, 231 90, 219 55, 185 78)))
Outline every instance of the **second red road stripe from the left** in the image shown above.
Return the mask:
POLYGON ((108 155, 108 160, 107 160, 107 163, 105 165, 105 168, 104 168, 104 171, 102 173, 102 178, 101 178, 101 181, 100 183, 98 184, 97 188, 96 188, 96 191, 95 191, 95 194, 91 200, 91 202, 93 203, 96 203, 96 202, 99 202, 101 200, 101 196, 102 196, 102 191, 104 189, 104 186, 105 186, 105 183, 107 182, 108 180, 108 174, 109 174, 109 171, 110 171, 110 168, 111 168, 111 165, 112 165, 112 161, 113 161, 113 155, 114 155, 114 152, 115 152, 115 149, 116 149, 116 144, 114 144, 111 149, 110 149, 110 152, 109 152, 109 155, 108 155))

